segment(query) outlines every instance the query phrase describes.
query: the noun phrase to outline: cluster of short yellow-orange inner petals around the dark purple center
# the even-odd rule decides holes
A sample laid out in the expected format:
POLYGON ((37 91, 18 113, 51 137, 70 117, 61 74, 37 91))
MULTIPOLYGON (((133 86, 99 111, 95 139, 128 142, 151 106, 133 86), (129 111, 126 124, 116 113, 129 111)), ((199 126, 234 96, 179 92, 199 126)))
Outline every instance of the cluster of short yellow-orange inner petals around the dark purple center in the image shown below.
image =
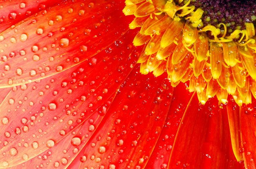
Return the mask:
POLYGON ((133 44, 144 46, 140 72, 167 72, 173 87, 189 82, 202 104, 214 96, 225 104, 228 95, 239 106, 251 103, 256 98, 255 16, 243 25, 225 19, 212 24, 213 15, 195 2, 126 0, 124 14, 135 16, 129 27, 140 29, 133 44))

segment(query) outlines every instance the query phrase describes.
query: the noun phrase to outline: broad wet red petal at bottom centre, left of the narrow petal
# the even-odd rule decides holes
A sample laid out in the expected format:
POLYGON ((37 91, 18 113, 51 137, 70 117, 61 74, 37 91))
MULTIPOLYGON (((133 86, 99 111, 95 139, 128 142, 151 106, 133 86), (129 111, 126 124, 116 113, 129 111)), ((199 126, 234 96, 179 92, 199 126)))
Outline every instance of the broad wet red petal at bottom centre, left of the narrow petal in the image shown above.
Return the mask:
POLYGON ((121 86, 79 168, 144 168, 160 136, 172 97, 166 75, 141 75, 139 67, 121 86))

